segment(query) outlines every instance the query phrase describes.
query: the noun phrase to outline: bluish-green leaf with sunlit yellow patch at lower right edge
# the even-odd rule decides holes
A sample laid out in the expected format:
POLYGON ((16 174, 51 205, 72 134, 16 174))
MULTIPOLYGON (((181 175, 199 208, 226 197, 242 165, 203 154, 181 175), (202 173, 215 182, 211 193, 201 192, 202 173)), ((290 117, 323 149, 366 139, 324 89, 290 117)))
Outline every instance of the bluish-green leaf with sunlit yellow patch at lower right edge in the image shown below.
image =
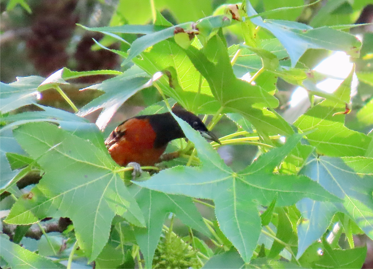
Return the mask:
MULTIPOLYGON (((366 165, 366 161, 357 158, 355 167, 366 165)), ((371 173, 371 171, 369 171, 371 173)), ((341 158, 320 156, 310 158, 300 171, 317 181, 330 193, 344 199, 344 203, 330 203, 303 199, 297 203, 297 208, 302 212, 305 220, 298 225, 299 258, 313 241, 322 237, 336 212, 347 213, 358 226, 373 238, 373 197, 372 175, 360 177, 348 167, 341 158)))

